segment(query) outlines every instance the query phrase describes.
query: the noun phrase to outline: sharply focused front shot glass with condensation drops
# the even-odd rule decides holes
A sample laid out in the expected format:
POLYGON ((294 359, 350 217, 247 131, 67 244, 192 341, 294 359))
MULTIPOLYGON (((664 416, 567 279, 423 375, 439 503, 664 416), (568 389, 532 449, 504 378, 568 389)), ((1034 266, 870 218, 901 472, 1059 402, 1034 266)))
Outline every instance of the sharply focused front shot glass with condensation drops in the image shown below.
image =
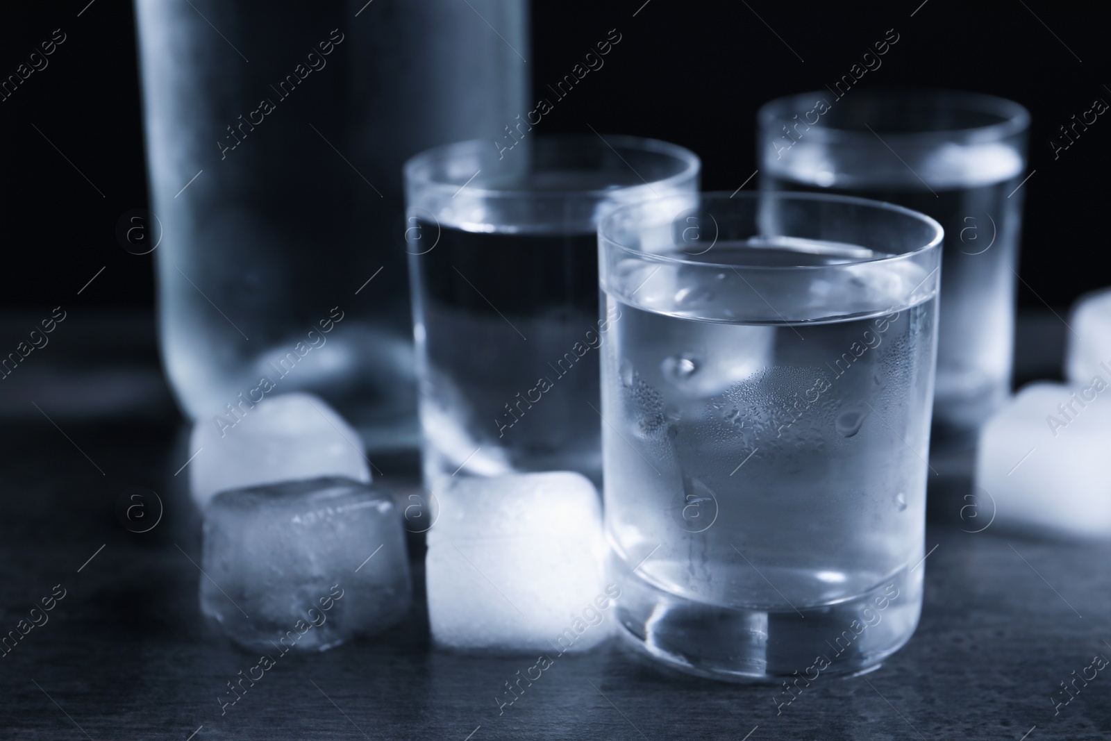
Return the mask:
POLYGON ((813 681, 910 639, 941 240, 921 213, 811 193, 602 221, 605 529, 635 645, 813 681))

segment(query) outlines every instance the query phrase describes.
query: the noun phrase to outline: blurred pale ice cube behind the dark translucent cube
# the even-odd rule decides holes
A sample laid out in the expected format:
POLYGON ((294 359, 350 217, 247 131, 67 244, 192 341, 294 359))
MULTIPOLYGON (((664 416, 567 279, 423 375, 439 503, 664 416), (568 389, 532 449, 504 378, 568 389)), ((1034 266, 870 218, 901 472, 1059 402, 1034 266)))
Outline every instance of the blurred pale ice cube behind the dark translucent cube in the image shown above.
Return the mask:
POLYGON ((201 509, 226 489, 321 475, 370 482, 359 433, 320 397, 292 392, 248 403, 193 425, 189 490, 201 509))

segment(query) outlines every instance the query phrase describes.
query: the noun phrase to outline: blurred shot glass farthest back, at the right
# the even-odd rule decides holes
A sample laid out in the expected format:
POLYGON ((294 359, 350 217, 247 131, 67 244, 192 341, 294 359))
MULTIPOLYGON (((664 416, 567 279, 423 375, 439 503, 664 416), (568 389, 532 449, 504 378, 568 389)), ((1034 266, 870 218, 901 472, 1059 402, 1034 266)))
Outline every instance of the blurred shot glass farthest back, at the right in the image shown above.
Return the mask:
POLYGON ((1008 398, 1030 114, 967 92, 837 90, 767 103, 760 183, 927 213, 945 229, 933 447, 974 445, 1008 398))

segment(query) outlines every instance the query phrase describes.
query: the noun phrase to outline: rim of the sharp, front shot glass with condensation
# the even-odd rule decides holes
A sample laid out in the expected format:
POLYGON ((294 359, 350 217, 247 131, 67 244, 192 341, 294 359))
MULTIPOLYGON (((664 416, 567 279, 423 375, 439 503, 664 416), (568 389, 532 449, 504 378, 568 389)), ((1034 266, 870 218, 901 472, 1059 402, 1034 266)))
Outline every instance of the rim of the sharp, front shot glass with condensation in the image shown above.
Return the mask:
POLYGON ((635 203, 624 203, 621 204, 609 213, 599 222, 598 224, 598 241, 599 251, 603 249, 619 249, 627 254, 635 257, 638 259, 648 260, 650 262, 662 262, 667 264, 687 266, 692 268, 705 268, 712 270, 721 270, 724 268, 731 270, 744 270, 744 271, 797 271, 797 270, 829 270, 831 268, 848 268, 851 266, 860 264, 872 264, 872 263, 883 263, 883 262, 897 262, 900 260, 912 259, 915 256, 923 254, 931 250, 938 250, 941 248, 941 243, 944 240, 944 229, 937 219, 929 217, 921 211, 914 211, 913 209, 908 209, 895 203, 889 203, 887 201, 875 201, 869 198, 859 198, 857 196, 841 196, 838 193, 810 193, 800 191, 747 191, 743 193, 733 193, 730 196, 727 191, 708 191, 700 193, 688 193, 688 194, 671 194, 664 196, 662 198, 657 198, 648 201, 638 201, 635 203), (712 201, 737 201, 737 199, 742 201, 753 201, 761 199, 777 199, 777 200, 791 200, 791 201, 814 201, 814 202, 827 202, 827 203, 843 203, 845 206, 862 206, 874 211, 884 211, 888 213, 898 213, 907 217, 918 223, 924 224, 932 232, 932 238, 925 244, 917 247, 907 252, 900 252, 898 254, 885 253, 882 257, 872 258, 861 258, 861 259, 848 259, 843 262, 837 262, 832 264, 814 264, 814 266, 738 266, 729 262, 705 262, 702 260, 688 260, 684 258, 675 258, 669 254, 660 254, 658 252, 644 252, 643 250, 638 250, 628 244, 623 244, 612 234, 612 222, 624 214, 628 214, 637 209, 652 208, 653 206, 659 206, 668 201, 671 202, 694 202, 697 199, 697 206, 700 206, 705 200, 712 201))

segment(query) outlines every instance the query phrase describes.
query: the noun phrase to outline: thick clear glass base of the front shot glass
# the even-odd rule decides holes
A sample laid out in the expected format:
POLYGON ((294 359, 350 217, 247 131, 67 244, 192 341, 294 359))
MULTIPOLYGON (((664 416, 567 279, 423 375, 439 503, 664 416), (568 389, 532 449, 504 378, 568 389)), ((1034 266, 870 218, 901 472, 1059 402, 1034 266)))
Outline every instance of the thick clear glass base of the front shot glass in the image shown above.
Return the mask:
POLYGON ((834 603, 751 609, 663 591, 613 561, 624 638, 679 671, 731 682, 809 683, 875 669, 910 640, 922 605, 923 565, 834 603))

